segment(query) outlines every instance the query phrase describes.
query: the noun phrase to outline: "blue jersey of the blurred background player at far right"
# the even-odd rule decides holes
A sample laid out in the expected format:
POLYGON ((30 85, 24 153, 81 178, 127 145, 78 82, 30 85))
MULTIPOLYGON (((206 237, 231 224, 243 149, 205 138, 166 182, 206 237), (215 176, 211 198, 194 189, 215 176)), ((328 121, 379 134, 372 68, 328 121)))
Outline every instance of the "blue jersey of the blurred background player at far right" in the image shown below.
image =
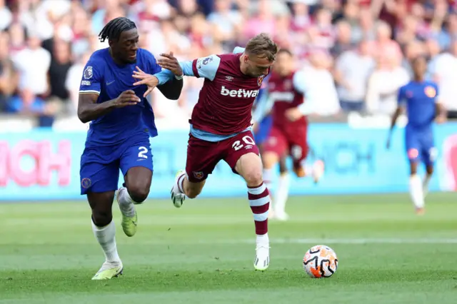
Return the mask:
POLYGON ((398 91, 398 105, 406 106, 408 127, 431 127, 436 114, 438 85, 432 81, 410 81, 398 91))

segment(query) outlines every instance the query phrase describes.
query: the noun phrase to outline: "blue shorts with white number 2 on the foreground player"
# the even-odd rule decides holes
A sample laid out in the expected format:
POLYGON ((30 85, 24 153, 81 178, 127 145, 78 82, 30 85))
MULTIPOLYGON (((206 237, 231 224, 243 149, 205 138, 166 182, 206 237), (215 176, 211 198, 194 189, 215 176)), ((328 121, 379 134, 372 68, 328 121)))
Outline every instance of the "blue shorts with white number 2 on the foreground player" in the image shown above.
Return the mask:
MULTIPOLYGON (((146 136, 144 136, 146 137, 146 136)), ((133 167, 153 171, 151 145, 147 138, 131 138, 116 146, 85 148, 81 156, 81 195, 116 191, 119 169, 123 176, 133 167)))

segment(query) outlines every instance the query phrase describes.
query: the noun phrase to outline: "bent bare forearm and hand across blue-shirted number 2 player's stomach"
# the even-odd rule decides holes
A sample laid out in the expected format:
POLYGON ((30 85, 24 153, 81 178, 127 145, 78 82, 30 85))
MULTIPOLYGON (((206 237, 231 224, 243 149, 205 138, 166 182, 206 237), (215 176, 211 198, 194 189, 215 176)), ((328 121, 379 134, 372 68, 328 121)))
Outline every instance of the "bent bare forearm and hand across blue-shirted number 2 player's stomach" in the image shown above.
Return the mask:
POLYGON ((79 93, 78 118, 81 122, 88 123, 111 112, 114 108, 134 106, 141 101, 131 90, 124 91, 117 98, 102 103, 97 103, 98 98, 97 93, 79 93))

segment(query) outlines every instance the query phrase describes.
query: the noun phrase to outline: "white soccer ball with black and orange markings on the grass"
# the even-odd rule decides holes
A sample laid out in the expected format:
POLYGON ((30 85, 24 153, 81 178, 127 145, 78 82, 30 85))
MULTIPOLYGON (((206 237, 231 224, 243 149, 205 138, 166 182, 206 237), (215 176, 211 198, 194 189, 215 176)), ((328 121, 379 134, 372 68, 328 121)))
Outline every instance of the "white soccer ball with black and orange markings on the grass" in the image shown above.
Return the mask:
POLYGON ((311 278, 328 278, 336 273, 338 258, 335 251, 326 245, 316 245, 306 251, 303 269, 311 278))

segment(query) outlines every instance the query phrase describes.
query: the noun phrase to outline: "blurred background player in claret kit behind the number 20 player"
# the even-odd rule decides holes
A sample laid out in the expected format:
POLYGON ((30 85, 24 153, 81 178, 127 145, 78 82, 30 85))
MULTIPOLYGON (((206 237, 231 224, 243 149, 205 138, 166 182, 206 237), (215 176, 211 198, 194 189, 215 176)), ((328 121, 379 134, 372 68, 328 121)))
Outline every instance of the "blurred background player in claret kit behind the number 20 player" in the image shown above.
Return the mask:
MULTIPOLYGON (((295 71, 296 62, 287 49, 281 49, 276 58, 276 64, 268 81, 266 108, 271 108, 273 124, 268 138, 263 143, 263 179, 268 189, 274 177, 274 166, 286 156, 293 160, 293 171, 298 177, 312 173, 315 182, 323 173, 323 162, 316 161, 313 166, 305 168, 304 161, 308 155, 306 132, 308 121, 306 114, 310 107, 306 104, 305 81, 303 72, 295 71)), ((255 116, 261 116, 254 113, 255 116)), ((280 170, 278 187, 272 203, 270 218, 286 221, 286 201, 288 198, 289 175, 287 170, 280 170)))

